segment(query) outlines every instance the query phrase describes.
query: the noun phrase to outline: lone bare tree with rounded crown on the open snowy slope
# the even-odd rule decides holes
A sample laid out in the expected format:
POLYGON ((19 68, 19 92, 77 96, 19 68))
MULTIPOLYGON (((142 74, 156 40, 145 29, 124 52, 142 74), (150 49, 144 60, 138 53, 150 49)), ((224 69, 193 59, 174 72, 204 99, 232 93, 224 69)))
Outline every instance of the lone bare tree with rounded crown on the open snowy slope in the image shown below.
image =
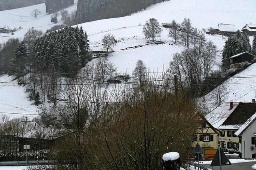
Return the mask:
POLYGON ((152 39, 152 42, 154 42, 156 37, 160 37, 162 32, 162 28, 160 27, 158 21, 155 18, 150 18, 148 21, 146 21, 146 24, 143 27, 143 33, 145 35, 145 38, 152 39))

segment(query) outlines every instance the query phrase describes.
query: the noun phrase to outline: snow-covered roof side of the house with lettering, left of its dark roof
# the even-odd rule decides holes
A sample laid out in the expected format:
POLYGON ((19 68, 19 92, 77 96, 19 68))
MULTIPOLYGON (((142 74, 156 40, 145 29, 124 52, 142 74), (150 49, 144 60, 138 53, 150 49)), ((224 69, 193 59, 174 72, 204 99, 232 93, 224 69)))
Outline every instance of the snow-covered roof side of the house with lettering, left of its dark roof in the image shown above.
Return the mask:
POLYGON ((233 107, 230 109, 230 103, 222 103, 220 106, 208 113, 205 118, 214 128, 219 128, 239 104, 240 102, 233 102, 233 107))

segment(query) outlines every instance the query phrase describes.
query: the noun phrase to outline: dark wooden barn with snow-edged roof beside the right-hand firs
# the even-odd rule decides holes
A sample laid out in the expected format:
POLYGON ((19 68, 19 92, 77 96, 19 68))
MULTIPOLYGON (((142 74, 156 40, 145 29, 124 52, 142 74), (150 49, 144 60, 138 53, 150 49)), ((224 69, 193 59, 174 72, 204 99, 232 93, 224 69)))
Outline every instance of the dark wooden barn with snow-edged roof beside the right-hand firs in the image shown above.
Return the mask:
POLYGON ((230 57, 230 69, 236 69, 238 68, 240 63, 243 63, 246 61, 252 62, 254 59, 256 59, 256 56, 248 52, 236 54, 230 57))

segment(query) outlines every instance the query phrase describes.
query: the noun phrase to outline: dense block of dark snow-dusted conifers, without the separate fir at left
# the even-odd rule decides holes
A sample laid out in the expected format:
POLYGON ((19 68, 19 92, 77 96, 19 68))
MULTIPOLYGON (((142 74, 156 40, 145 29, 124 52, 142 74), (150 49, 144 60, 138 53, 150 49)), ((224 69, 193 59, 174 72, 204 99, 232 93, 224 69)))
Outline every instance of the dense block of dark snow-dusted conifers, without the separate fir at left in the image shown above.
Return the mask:
POLYGON ((39 38, 34 45, 36 71, 75 74, 88 60, 88 39, 82 28, 65 27, 39 38))

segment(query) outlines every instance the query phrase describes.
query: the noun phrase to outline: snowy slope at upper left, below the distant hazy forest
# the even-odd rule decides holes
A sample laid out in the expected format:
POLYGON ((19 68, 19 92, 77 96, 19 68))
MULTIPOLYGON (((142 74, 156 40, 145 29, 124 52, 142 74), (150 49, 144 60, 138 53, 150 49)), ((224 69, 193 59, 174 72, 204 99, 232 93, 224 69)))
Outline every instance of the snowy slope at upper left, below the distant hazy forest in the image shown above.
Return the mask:
MULTIPOLYGON (((76 10, 77 1, 74 0, 74 5, 68 8, 68 12, 72 12, 76 10)), ((61 16, 58 16, 58 23, 54 24, 50 22, 51 14, 46 14, 45 4, 38 4, 34 6, 27 6, 24 8, 18 8, 13 10, 4 10, 0 11, 0 26, 9 26, 11 29, 22 27, 22 30, 14 32, 14 35, 11 34, 0 34, 0 36, 7 36, 7 37, 0 37, 0 43, 6 42, 8 38, 23 38, 29 28, 36 28, 37 30, 42 30, 46 32, 46 30, 50 29, 54 25, 62 24, 61 16), (37 19, 30 16, 30 13, 38 9, 42 12, 37 19)))

